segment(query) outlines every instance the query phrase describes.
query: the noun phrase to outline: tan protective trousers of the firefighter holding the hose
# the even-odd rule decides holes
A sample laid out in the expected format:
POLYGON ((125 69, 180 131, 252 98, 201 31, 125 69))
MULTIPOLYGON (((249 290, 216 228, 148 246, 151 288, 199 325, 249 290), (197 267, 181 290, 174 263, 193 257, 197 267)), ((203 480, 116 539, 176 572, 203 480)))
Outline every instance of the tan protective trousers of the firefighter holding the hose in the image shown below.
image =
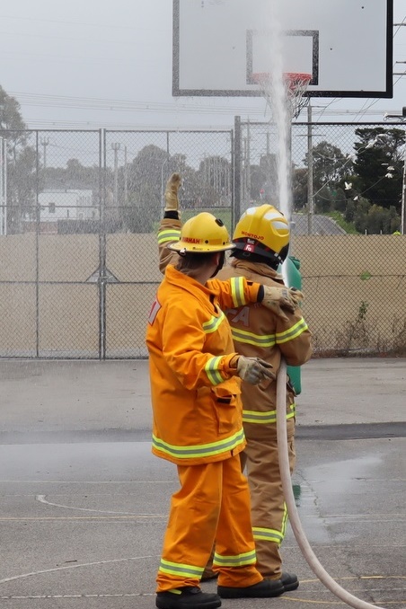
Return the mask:
MULTIPOLYGON (((287 507, 278 461, 277 426, 245 424, 247 446, 241 455, 250 486, 252 531, 257 569, 264 578, 278 579, 282 573, 280 544, 287 528, 287 507)), ((290 472, 296 463, 295 419, 287 420, 290 472)))

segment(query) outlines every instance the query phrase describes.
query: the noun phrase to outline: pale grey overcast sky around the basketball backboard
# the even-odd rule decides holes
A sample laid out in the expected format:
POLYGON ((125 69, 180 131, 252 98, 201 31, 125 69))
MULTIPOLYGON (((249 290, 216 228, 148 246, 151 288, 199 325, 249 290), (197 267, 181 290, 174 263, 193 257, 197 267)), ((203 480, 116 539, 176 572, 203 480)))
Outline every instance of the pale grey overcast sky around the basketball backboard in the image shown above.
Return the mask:
MULTIPOLYGON (((405 0, 394 0, 403 21, 405 0)), ((393 32, 394 60, 406 62, 406 26, 393 32)), ((0 84, 30 128, 231 128, 236 114, 264 117, 260 99, 172 97, 172 0, 3 2, 0 57, 0 84)), ((323 107, 320 119, 383 119, 406 106, 406 75, 393 82, 393 100, 314 99, 314 117, 323 107)))

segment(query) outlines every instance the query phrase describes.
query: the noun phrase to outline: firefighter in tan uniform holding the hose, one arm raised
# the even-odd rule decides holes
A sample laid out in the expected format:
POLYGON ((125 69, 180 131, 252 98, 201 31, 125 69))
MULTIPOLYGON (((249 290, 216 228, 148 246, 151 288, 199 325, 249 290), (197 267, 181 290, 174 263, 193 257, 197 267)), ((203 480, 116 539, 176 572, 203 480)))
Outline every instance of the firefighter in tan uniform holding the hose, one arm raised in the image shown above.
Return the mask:
MULTIPOLYGON (((172 176, 173 178, 173 176, 172 176)), ((181 221, 178 212, 179 183, 168 181, 166 195, 174 201, 165 212, 158 240, 160 268, 163 270, 172 254, 165 245, 179 239, 181 221), (176 196, 173 199, 173 196, 176 196)), ((278 266, 286 259, 289 227, 285 216, 275 207, 252 207, 241 217, 234 231, 235 249, 230 265, 219 271, 218 278, 241 278, 262 283, 271 288, 284 287, 278 266)), ((245 357, 260 357, 269 362, 276 374, 284 357, 290 366, 304 364, 312 353, 311 334, 300 313, 296 297, 294 310, 269 310, 258 303, 226 309, 232 328, 234 349, 245 357)), ((279 546, 287 528, 287 508, 278 467, 276 426, 276 383, 242 384, 243 427, 247 446, 240 455, 246 467, 251 490, 252 531, 257 553, 257 568, 268 578, 275 596, 298 587, 296 575, 282 572, 279 546)), ((291 472, 295 466, 295 393, 287 384, 287 437, 291 472)), ((210 577, 210 565, 204 575, 210 577)), ((215 569, 216 571, 216 569, 215 569)))

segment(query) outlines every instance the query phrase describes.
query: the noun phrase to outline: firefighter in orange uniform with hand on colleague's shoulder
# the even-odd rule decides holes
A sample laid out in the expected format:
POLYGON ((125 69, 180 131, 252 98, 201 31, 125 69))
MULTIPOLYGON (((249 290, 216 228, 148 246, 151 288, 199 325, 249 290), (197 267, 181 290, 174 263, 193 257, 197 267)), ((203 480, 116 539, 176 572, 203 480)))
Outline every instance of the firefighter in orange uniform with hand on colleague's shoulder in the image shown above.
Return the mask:
POLYGON ((288 290, 245 278, 212 279, 234 248, 211 214, 190 218, 172 243, 169 264, 148 320, 153 452, 177 465, 157 575, 160 609, 215 609, 221 597, 276 596, 256 569, 250 493, 239 454, 245 446, 240 379, 272 384, 271 366, 234 351, 224 309, 260 302, 293 309, 288 290), (217 594, 199 580, 216 540, 217 594))

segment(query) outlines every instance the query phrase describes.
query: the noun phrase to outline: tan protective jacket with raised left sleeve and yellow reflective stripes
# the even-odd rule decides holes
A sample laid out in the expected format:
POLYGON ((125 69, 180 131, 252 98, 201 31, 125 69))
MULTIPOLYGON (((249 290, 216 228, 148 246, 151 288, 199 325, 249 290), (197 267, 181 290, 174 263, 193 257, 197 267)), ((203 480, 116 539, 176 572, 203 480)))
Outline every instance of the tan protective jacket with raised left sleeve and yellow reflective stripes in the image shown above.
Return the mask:
MULTIPOLYGON (((178 240, 180 231, 180 220, 162 220, 158 233, 162 271, 173 256, 173 252, 168 250, 166 245, 178 240)), ((282 276, 268 264, 231 260, 231 264, 226 265, 216 275, 217 279, 244 277, 264 286, 284 285, 282 276)), ((273 371, 277 375, 281 357, 285 358, 289 366, 302 366, 310 359, 311 332, 299 308, 295 313, 285 312, 286 320, 259 303, 227 307, 225 313, 231 325, 234 349, 246 357, 265 359, 272 364, 273 371)), ((260 428, 264 431, 269 425, 276 428, 276 392, 276 383, 255 386, 242 384, 243 422, 245 431, 246 433, 248 431, 250 437, 260 433, 260 428), (255 428, 251 428, 250 424, 255 428)), ((295 393, 291 386, 287 386, 287 419, 293 419, 295 414, 295 393)))

